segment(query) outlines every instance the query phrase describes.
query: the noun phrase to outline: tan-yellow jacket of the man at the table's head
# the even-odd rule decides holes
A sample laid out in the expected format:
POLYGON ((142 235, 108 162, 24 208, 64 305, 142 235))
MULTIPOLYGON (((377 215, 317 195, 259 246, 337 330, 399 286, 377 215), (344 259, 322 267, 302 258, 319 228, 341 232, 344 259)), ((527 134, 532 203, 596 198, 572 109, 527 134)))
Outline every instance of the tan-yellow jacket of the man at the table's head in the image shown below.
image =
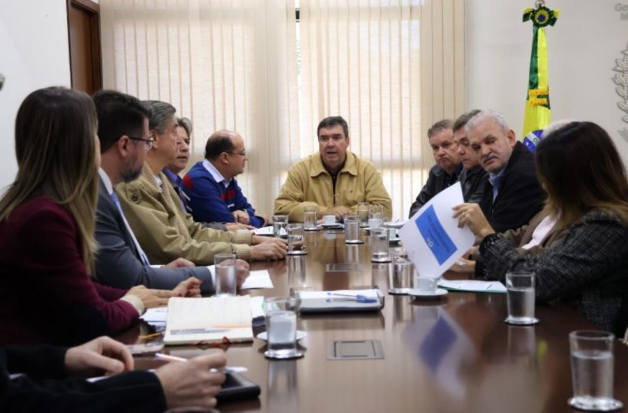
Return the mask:
POLYGON ((299 161, 288 170, 281 193, 275 200, 275 214, 285 214, 291 221, 303 222, 307 205, 318 207, 322 217, 328 207, 344 205, 357 211, 357 204, 368 202, 384 207, 384 217, 391 218, 392 202, 380 172, 372 163, 347 151, 347 160, 336 179, 336 194, 332 192, 331 175, 325 170, 320 153, 299 161))

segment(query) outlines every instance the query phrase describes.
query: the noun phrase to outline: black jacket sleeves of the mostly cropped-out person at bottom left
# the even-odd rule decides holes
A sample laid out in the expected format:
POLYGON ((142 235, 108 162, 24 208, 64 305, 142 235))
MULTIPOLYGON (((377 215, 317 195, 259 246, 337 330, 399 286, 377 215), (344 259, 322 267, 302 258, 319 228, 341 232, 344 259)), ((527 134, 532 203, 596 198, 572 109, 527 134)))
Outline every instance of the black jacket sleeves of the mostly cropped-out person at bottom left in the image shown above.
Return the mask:
POLYGON ((50 346, 0 349, 0 412, 163 412, 167 408, 153 373, 135 370, 89 383, 66 377, 65 354, 65 349, 50 346), (10 380, 8 374, 15 373, 25 375, 10 380))

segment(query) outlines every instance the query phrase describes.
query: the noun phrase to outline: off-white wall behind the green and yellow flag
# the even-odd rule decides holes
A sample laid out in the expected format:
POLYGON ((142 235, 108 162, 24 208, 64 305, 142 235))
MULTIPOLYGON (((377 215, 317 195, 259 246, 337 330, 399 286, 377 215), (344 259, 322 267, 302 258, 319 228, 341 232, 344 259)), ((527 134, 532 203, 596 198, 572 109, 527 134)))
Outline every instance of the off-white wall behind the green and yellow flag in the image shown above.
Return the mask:
MULTIPOLYGON (((546 29, 552 119, 590 120, 604 127, 628 165, 628 116, 611 77, 628 48, 628 0, 548 0, 560 16, 546 29), (617 6, 617 5, 620 6, 617 6), (615 8, 626 9, 626 20, 615 8), (619 130, 625 130, 622 138, 619 130)), ((467 0, 468 109, 504 113, 517 136, 523 126, 532 23, 521 22, 533 0, 467 0)))

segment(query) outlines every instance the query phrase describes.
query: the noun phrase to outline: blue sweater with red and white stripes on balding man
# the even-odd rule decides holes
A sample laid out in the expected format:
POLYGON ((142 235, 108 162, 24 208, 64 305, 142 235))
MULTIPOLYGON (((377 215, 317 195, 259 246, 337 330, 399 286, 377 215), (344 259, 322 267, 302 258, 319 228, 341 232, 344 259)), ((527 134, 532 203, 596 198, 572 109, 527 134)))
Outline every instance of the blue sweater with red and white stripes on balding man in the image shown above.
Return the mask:
POLYGON ((248 203, 235 179, 225 188, 222 182, 216 182, 202 162, 197 162, 183 179, 183 190, 190 197, 190 209, 197 222, 233 223, 233 211, 246 211, 250 218, 248 224, 260 228, 264 218, 255 216, 255 209, 248 203))

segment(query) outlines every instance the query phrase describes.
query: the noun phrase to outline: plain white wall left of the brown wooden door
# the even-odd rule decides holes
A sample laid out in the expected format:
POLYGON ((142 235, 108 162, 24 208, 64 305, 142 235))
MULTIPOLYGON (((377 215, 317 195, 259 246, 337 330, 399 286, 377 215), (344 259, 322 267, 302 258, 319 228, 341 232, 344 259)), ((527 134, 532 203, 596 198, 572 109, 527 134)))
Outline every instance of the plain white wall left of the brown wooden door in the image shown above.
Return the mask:
POLYGON ((31 91, 70 87, 66 0, 0 0, 0 188, 13 182, 15 115, 31 91))

